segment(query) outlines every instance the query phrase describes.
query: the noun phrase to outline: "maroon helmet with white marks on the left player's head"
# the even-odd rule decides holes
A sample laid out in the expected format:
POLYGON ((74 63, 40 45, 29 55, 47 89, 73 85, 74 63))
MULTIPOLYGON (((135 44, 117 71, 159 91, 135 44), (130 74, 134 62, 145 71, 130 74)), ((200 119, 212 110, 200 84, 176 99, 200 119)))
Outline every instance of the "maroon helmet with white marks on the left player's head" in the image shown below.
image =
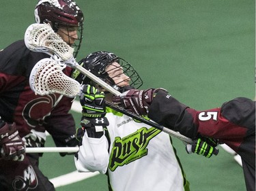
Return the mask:
POLYGON ((35 22, 51 23, 53 31, 59 27, 78 27, 78 36, 74 47, 76 58, 83 39, 83 12, 73 0, 40 0, 35 5, 35 22))

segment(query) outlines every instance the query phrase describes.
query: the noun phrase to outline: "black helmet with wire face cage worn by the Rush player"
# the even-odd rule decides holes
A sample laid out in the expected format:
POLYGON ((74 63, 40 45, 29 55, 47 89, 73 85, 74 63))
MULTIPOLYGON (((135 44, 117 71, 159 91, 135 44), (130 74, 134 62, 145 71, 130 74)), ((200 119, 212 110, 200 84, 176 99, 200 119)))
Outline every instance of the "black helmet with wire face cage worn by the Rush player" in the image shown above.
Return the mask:
MULTIPOLYGON (((116 90, 119 90, 120 92, 124 92, 130 88, 139 88, 143 84, 141 77, 139 77, 139 74, 134 70, 132 65, 130 65, 130 63, 128 63, 123 58, 119 58, 111 52, 98 51, 91 53, 80 60, 79 65, 83 66, 97 77, 100 77, 101 80, 111 85, 116 90), (120 87, 119 84, 115 84, 114 80, 109 77, 109 74, 106 72, 106 67, 115 62, 119 63, 120 67, 122 67, 123 73, 130 78, 130 86, 120 87)), ((83 75, 83 73, 80 73, 80 71, 75 70, 72 73, 72 77, 81 84, 95 85, 94 82, 89 79, 89 77, 86 77, 83 75)))

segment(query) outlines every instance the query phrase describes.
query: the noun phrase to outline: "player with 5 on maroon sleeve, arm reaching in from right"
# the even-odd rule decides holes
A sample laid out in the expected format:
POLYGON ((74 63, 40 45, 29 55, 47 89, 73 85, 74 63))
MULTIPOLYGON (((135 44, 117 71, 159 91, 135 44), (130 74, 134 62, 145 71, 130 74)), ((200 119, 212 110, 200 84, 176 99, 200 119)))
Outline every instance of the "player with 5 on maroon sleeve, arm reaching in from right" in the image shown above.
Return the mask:
MULTIPOLYGON (((227 144, 242 158, 247 191, 255 191, 255 101, 238 97, 221 107, 197 111, 154 89, 129 90, 113 101, 191 139, 202 135, 227 144)), ((190 150, 197 152, 197 146, 190 150)))

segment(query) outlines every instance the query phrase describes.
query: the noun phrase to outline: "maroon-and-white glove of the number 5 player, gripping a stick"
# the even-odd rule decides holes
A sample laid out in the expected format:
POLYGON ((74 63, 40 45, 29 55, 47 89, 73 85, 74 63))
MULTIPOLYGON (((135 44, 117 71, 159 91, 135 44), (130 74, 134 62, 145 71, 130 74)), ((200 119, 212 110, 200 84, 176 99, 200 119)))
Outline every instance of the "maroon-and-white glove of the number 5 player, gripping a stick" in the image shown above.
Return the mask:
POLYGON ((162 88, 150 88, 147 90, 131 89, 122 93, 120 96, 113 97, 112 101, 134 114, 145 116, 159 91, 167 92, 167 90, 162 88))

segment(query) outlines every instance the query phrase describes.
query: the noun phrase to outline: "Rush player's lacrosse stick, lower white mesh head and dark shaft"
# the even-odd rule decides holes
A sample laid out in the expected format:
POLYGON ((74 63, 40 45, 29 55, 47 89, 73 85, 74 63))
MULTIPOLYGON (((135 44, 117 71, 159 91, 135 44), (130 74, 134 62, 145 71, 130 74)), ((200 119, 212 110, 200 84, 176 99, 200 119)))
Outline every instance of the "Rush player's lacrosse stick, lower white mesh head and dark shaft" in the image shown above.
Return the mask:
MULTIPOLYGON (((81 85, 76 82, 76 80, 65 75, 61 71, 61 67, 58 67, 58 62, 58 60, 53 60, 51 58, 44 58, 40 60, 35 67, 33 67, 29 77, 31 89, 35 92, 35 94, 40 95, 56 92, 63 94, 66 97, 75 97, 76 95, 80 95, 82 90, 81 85)), ((186 143, 193 143, 192 139, 185 137, 176 131, 172 131, 169 128, 160 126, 156 122, 152 122, 142 118, 141 116, 137 116, 136 114, 133 114, 122 107, 118 107, 113 103, 106 102, 106 105, 121 112, 122 114, 126 114, 131 118, 144 122, 150 126, 154 126, 155 128, 158 128, 169 135, 173 135, 173 137, 177 137, 186 143)))

